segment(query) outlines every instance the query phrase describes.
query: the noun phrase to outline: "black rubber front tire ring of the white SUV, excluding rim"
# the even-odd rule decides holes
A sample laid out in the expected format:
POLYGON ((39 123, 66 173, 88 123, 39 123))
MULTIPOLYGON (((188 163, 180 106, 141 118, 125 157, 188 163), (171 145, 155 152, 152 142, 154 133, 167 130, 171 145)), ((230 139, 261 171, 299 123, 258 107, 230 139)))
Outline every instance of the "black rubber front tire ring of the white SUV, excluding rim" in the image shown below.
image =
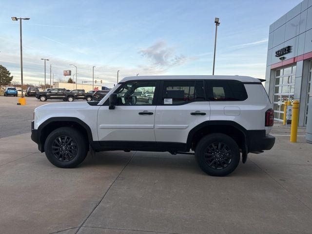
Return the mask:
POLYGON ((61 127, 54 130, 49 134, 44 144, 45 155, 48 160, 55 166, 60 168, 73 168, 77 167, 87 156, 87 139, 76 129, 72 127, 61 127), (53 154, 51 150, 52 143, 56 137, 59 136, 69 136, 72 137, 77 144, 77 155, 68 162, 59 161, 53 154))

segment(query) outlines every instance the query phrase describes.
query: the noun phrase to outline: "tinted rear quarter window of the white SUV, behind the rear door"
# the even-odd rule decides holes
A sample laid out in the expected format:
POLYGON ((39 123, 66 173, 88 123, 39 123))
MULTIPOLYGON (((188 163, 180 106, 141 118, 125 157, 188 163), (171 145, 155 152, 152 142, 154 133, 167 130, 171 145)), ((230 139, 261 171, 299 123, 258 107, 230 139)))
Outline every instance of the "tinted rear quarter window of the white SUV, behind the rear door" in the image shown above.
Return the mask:
POLYGON ((238 80, 206 80, 210 101, 243 101, 248 98, 243 82, 238 80))

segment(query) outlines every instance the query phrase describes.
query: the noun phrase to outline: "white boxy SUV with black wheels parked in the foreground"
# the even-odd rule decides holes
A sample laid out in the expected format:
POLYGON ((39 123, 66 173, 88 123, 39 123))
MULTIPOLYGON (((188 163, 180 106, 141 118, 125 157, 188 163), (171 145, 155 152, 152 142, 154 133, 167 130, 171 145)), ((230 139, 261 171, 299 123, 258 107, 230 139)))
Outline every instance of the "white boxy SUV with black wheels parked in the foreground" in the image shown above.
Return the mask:
POLYGON ((123 78, 99 102, 35 109, 32 139, 57 167, 88 151, 193 154, 209 175, 225 176, 248 153, 273 147, 272 104, 261 81, 241 76, 123 78))

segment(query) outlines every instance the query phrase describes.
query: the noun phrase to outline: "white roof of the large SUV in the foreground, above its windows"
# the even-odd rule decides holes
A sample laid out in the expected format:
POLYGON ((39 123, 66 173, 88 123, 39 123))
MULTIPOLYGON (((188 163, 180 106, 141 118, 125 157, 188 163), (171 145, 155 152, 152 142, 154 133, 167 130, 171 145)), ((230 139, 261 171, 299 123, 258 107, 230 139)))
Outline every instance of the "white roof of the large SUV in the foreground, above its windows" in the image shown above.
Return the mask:
MULTIPOLYGON (((259 82, 259 79, 246 76, 207 76, 207 75, 183 75, 183 76, 137 76, 137 77, 125 77, 120 82, 128 80, 141 80, 141 79, 234 79, 242 82, 259 82)), ((261 80, 264 81, 264 80, 261 80)))

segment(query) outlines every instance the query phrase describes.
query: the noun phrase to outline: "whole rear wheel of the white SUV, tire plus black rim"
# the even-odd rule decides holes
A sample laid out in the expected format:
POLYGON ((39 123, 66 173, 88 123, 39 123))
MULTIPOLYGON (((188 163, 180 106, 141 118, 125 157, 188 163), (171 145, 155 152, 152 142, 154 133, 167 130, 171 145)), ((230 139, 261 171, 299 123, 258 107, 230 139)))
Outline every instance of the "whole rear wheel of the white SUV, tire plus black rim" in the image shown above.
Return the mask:
POLYGON ((203 137, 195 149, 199 167, 210 176, 227 176, 238 166, 240 152, 232 137, 213 133, 203 137))

